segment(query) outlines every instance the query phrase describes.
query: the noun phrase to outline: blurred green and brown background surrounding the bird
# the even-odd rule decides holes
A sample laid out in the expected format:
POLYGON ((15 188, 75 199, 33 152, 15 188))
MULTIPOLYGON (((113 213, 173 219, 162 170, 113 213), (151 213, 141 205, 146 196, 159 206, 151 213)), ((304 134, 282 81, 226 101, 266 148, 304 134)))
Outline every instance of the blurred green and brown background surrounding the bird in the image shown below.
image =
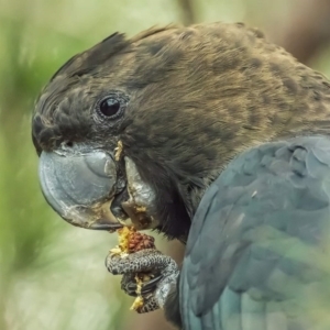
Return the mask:
MULTIPOLYGON (((121 31, 244 21, 330 77, 329 0, 0 0, 0 329, 169 329, 136 316, 103 260, 117 238, 62 221, 44 201, 30 121, 52 74, 121 31)), ((161 242, 180 258, 178 243, 161 242)))

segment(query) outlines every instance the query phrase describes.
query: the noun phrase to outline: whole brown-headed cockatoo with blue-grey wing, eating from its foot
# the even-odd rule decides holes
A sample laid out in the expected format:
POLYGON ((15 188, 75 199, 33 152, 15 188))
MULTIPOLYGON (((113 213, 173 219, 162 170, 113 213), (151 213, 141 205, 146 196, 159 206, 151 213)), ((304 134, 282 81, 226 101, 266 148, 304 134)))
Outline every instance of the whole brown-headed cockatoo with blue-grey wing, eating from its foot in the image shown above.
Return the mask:
POLYGON ((56 72, 32 121, 65 220, 186 244, 182 266, 106 262, 128 294, 153 273, 140 311, 186 330, 330 329, 329 132, 329 80, 241 23, 114 33, 56 72))

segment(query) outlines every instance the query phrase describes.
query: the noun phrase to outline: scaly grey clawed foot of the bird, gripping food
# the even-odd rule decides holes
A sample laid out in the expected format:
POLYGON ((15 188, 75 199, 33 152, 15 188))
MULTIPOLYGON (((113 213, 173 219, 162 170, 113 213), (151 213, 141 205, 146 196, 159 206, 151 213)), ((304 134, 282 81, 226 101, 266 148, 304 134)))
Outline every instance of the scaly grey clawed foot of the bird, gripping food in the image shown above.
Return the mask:
POLYGON ((111 274, 123 275, 121 288, 136 297, 132 309, 139 314, 163 308, 179 275, 176 262, 155 249, 122 255, 110 252, 106 266, 111 274))

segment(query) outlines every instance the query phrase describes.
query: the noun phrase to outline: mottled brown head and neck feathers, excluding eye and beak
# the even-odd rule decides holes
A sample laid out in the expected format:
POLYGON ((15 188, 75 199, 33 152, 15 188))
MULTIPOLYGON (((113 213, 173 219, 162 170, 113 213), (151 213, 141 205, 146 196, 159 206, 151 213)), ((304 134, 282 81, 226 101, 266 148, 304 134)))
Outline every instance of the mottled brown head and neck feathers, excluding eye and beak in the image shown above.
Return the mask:
POLYGON ((38 151, 63 141, 113 150, 121 140, 124 155, 162 195, 163 223, 182 210, 188 226, 206 187, 235 154, 284 136, 328 133, 329 119, 322 75, 257 30, 215 23, 152 29, 131 40, 116 33, 76 55, 43 90, 33 139, 38 151), (125 113, 116 123, 97 122, 95 107, 110 91, 129 99, 125 113))

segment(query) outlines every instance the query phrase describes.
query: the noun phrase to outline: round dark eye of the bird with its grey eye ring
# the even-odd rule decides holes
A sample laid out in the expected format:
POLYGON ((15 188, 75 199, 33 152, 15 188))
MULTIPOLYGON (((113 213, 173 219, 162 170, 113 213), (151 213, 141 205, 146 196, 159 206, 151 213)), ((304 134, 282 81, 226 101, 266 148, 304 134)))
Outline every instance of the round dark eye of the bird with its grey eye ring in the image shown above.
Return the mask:
POLYGON ((103 98, 97 106, 97 113, 103 120, 119 118, 127 106, 127 100, 119 95, 111 95, 103 98))

